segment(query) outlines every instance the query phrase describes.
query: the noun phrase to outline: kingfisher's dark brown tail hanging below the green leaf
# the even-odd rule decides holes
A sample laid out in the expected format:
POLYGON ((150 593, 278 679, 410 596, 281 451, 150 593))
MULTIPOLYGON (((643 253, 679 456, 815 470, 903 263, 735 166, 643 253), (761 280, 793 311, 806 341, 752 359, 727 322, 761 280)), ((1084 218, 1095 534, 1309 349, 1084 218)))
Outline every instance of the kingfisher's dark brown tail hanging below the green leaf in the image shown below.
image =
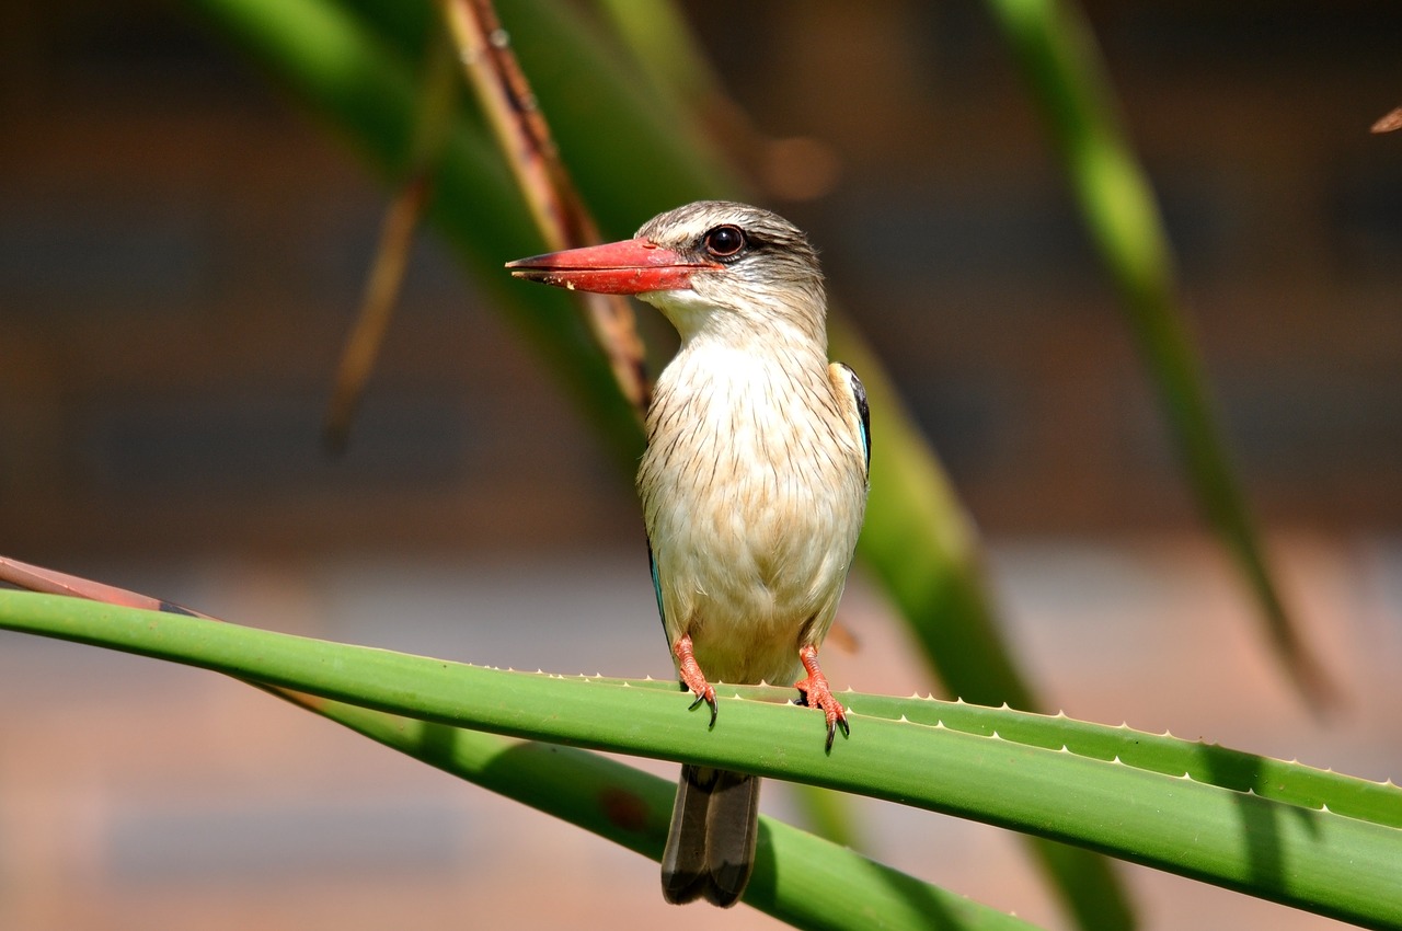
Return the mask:
POLYGON ((662 854, 662 896, 733 906, 754 869, 760 780, 708 766, 681 766, 672 830, 662 854))

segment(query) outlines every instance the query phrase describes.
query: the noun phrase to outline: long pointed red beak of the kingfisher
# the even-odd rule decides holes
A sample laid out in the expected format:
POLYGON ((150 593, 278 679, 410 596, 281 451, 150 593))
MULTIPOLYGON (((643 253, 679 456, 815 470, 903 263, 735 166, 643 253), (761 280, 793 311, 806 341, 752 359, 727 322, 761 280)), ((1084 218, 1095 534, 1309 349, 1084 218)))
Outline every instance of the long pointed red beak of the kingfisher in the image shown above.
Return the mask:
POLYGON ((516 278, 530 282, 594 292, 597 294, 645 294, 691 286, 691 275, 714 262, 695 262, 646 240, 624 240, 606 245, 533 255, 508 262, 516 278))

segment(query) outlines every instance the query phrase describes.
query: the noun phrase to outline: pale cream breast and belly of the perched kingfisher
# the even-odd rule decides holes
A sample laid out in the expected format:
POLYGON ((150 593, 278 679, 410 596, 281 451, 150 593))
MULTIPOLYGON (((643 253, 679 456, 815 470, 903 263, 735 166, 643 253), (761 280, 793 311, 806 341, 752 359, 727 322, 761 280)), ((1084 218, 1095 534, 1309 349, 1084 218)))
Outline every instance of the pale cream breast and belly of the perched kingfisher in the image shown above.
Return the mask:
POLYGON ((669 639, 690 634, 712 681, 787 684, 801 642, 822 641, 831 624, 865 473, 859 454, 823 446, 829 433, 812 414, 742 387, 757 402, 725 404, 712 386, 687 429, 653 436, 645 517, 669 639))

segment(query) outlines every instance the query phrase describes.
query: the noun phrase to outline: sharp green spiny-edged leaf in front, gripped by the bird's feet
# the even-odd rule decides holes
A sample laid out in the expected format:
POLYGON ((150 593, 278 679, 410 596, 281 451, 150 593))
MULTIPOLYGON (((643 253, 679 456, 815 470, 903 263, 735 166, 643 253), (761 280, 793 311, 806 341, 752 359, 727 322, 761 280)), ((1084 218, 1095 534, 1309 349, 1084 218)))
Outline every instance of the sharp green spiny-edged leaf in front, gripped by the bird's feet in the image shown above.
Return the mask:
MULTIPOLYGON (((437 723, 858 792, 1087 845, 1346 921, 1402 927, 1396 827, 1123 759, 1019 743, 1001 730, 916 723, 904 712, 900 719, 864 715, 864 695, 848 697, 854 738, 824 753, 823 723, 806 709, 728 690, 722 723, 708 729, 704 715, 687 714, 688 697, 676 693, 505 673, 60 596, 0 593, 0 627, 437 723)), ((924 707, 928 700, 910 701, 924 707)))

